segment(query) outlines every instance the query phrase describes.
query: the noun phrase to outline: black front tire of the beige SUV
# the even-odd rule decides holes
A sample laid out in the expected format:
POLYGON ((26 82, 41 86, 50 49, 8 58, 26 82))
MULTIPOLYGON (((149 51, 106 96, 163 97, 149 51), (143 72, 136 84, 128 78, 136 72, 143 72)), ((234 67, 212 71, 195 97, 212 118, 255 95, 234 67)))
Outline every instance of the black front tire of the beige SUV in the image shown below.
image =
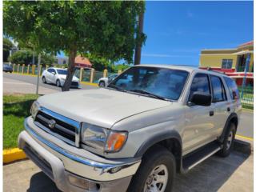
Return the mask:
POLYGON ((147 187, 156 186, 159 187, 158 191, 171 192, 175 174, 176 162, 174 155, 171 154, 169 150, 166 150, 166 148, 162 146, 155 146, 154 148, 149 150, 142 158, 142 163, 139 166, 137 173, 134 174, 127 191, 145 192, 150 191, 146 190, 147 187), (154 171, 159 169, 162 171, 156 174, 156 177, 150 177, 152 176, 152 172, 154 173, 154 171), (163 179, 165 180, 165 182, 158 182, 158 180, 160 179, 158 178, 159 175, 162 176, 162 179, 167 178, 167 180, 163 179), (156 181, 154 179, 156 179, 156 181), (154 184, 154 182, 158 182, 158 185, 154 184))

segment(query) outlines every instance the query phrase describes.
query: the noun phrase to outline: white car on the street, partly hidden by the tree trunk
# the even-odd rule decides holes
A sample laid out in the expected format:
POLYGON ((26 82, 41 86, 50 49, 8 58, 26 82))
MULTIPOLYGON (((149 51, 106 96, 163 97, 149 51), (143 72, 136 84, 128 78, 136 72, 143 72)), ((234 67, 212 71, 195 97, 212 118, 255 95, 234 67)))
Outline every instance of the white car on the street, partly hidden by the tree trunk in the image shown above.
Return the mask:
MULTIPOLYGON (((42 72, 42 82, 63 86, 66 80, 66 74, 66 69, 50 67, 42 72)), ((71 87, 81 88, 79 78, 73 77, 71 87)))

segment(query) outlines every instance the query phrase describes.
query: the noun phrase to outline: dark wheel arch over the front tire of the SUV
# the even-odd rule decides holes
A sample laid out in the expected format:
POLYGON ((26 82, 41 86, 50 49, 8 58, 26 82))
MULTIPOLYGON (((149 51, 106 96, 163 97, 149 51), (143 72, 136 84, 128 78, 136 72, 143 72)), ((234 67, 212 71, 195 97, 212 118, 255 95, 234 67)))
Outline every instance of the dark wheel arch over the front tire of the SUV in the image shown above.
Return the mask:
POLYGON ((154 146, 163 146, 169 150, 176 160, 176 168, 179 172, 182 166, 182 138, 178 131, 170 130, 161 134, 155 134, 154 137, 148 138, 139 147, 135 157, 143 157, 144 154, 154 146))

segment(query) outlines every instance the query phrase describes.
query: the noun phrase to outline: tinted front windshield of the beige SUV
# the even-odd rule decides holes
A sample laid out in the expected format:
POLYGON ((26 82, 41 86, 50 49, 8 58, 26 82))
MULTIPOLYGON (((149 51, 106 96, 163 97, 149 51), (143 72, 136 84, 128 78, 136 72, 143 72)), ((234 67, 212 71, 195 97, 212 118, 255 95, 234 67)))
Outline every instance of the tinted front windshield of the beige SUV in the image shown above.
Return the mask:
POLYGON ((119 75, 108 87, 178 100, 188 74, 185 70, 136 66, 119 75))

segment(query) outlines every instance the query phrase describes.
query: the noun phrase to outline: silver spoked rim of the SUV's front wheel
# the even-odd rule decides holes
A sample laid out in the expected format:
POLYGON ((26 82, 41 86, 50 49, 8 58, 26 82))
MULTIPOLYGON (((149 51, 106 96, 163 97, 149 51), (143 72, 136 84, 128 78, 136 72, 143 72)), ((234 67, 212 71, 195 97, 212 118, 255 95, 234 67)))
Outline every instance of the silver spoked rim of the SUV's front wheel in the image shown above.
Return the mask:
POLYGON ((168 182, 168 170, 165 165, 154 167, 146 178, 144 192, 164 192, 168 182))

